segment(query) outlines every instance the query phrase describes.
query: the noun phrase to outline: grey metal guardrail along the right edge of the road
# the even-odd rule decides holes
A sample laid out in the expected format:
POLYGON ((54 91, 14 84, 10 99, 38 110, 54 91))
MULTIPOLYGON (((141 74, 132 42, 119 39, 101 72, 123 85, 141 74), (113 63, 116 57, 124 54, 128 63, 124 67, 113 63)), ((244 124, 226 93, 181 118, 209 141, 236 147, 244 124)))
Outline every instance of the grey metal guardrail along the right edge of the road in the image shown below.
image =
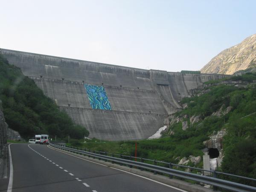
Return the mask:
MULTIPOLYGON (((75 149, 74 147, 68 148, 61 145, 55 145, 53 143, 50 143, 50 145, 52 145, 55 148, 63 149, 65 151, 71 151, 77 154, 87 155, 88 157, 99 158, 99 160, 111 161, 112 163, 119 163, 120 165, 127 165, 130 168, 137 167, 137 168, 140 168, 142 171, 147 169, 147 170, 153 171, 154 174, 157 174, 157 172, 162 174, 167 174, 170 176, 170 178, 172 178, 173 176, 176 176, 184 179, 194 180, 201 183, 207 183, 209 185, 214 186, 215 187, 214 189, 216 189, 216 187, 220 187, 222 189, 227 189, 234 192, 256 192, 256 187, 253 187, 253 186, 248 186, 240 183, 222 180, 215 177, 207 177, 204 175, 184 172, 184 171, 180 171, 172 168, 157 166, 155 165, 155 163, 154 165, 152 165, 148 163, 127 160, 127 159, 123 159, 122 155, 120 158, 117 158, 117 157, 108 156, 106 152, 104 152, 104 155, 103 155, 103 154, 97 154, 95 153, 95 151, 92 151, 92 150, 89 150, 89 152, 87 152, 84 150, 75 149)), ((130 156, 127 156, 127 157, 130 157, 130 156)), ((144 160, 147 160, 147 159, 144 159, 144 160)))

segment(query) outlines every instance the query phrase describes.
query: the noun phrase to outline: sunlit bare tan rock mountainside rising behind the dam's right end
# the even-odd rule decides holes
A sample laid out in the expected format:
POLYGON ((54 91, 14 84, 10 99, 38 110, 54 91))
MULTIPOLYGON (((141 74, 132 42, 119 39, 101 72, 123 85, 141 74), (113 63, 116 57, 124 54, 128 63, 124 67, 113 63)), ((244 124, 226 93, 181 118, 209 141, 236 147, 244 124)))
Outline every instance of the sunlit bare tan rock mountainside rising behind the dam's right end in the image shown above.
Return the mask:
POLYGON ((201 73, 232 75, 236 71, 253 67, 256 67, 256 34, 220 52, 201 69, 201 73))

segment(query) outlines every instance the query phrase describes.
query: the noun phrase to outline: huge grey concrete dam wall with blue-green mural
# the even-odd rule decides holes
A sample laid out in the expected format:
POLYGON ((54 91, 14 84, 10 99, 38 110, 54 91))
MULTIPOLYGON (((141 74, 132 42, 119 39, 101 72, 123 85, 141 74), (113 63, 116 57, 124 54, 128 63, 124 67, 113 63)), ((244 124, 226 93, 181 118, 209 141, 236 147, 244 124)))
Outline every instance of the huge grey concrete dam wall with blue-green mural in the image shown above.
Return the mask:
MULTIPOLYGON (((90 138, 137 140, 153 135, 205 81, 216 74, 174 73, 0 49, 90 138)), ((81 136, 82 137, 82 136, 81 136)))

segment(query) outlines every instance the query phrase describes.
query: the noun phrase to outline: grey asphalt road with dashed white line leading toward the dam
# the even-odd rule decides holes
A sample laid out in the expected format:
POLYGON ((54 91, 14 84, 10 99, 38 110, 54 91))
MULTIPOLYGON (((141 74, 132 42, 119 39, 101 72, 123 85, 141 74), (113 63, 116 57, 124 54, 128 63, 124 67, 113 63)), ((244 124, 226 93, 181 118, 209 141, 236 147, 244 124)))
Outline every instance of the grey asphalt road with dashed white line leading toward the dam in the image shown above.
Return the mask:
POLYGON ((10 145, 12 192, 180 192, 39 144, 10 145))

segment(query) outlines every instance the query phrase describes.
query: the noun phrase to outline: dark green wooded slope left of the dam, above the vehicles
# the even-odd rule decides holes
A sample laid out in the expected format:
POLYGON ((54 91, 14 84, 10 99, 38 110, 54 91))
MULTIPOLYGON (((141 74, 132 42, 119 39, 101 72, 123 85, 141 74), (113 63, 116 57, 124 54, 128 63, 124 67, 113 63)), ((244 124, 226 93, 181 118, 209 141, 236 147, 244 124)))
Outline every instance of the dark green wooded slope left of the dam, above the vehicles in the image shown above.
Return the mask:
POLYGON ((35 134, 57 135, 60 138, 88 136, 89 132, 61 112, 57 105, 44 96, 35 82, 23 76, 20 69, 10 65, 0 55, 0 99, 9 127, 25 138, 35 134))

